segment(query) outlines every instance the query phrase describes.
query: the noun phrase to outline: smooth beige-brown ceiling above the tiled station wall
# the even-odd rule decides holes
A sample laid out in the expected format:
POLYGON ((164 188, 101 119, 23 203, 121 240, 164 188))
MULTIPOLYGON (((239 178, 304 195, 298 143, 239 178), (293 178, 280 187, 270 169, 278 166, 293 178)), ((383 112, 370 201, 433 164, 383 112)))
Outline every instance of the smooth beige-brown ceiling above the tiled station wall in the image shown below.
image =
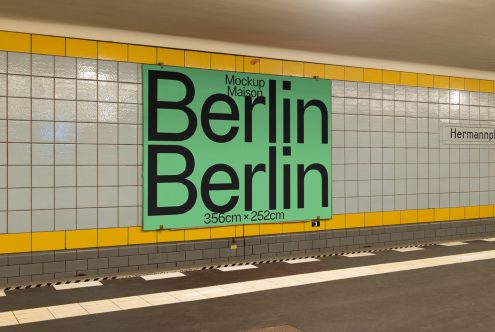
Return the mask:
POLYGON ((490 0, 1 0, 0 17, 495 71, 490 0))

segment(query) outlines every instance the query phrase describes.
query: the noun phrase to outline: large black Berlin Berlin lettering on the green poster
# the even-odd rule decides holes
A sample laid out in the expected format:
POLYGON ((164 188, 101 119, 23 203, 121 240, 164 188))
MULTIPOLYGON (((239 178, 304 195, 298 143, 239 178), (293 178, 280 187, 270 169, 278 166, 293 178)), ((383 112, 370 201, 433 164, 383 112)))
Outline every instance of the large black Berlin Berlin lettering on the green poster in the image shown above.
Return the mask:
MULTIPOLYGON (((228 82, 235 84, 235 81, 228 82)), ((243 83, 243 82, 241 82, 243 83)), ((282 91, 278 91, 277 82, 275 80, 268 81, 268 96, 252 96, 245 95, 243 103, 239 103, 229 96, 229 94, 215 93, 209 95, 202 103, 201 109, 191 109, 191 103, 195 100, 196 87, 194 82, 185 74, 173 71, 157 71, 151 70, 148 76, 148 139, 149 141, 161 141, 171 144, 167 145, 149 145, 148 147, 148 205, 149 215, 176 215, 186 213, 192 209, 198 198, 198 189, 195 184, 189 179, 191 174, 195 172, 195 157, 192 151, 185 146, 179 145, 179 142, 186 141, 191 138, 201 126, 205 136, 212 142, 219 143, 221 148, 222 143, 230 142, 238 139, 239 125, 244 124, 244 135, 242 140, 245 143, 253 142, 253 113, 264 112, 268 122, 268 142, 267 153, 268 162, 258 164, 244 165, 244 210, 250 211, 253 209, 253 178, 265 174, 268 176, 268 207, 270 210, 277 208, 277 171, 282 171, 283 179, 283 208, 291 207, 291 164, 283 163, 284 158, 291 156, 292 151, 289 146, 275 146, 277 142, 277 117, 282 117, 282 143, 291 143, 291 121, 296 121, 296 142, 303 144, 305 140, 305 115, 309 112, 318 112, 321 117, 321 128, 311 128, 311 130, 321 130, 321 143, 328 144, 329 136, 329 112, 324 102, 318 99, 311 100, 296 100, 296 112, 291 112, 290 98, 283 98, 282 111, 277 112, 277 94, 288 92, 291 90, 291 82, 282 82, 282 91), (163 100, 158 98, 158 82, 161 80, 174 81, 175 84, 181 84, 185 88, 185 94, 182 99, 163 100), (217 104, 227 106, 228 112, 214 112, 213 108, 217 104), (242 107, 242 108, 240 108, 242 107), (162 132, 158 130, 159 112, 182 112, 187 118, 187 127, 181 132, 162 132), (291 114, 295 119, 291 119, 291 114), (295 115, 295 116, 294 116, 295 115), (243 119, 241 119, 243 116, 243 119), (199 117, 199 118, 198 118, 199 117), (215 132, 214 122, 224 121, 228 123, 227 132, 215 132), (176 143, 176 144, 173 144, 176 143), (184 158, 185 168, 180 174, 158 174, 157 161, 160 154, 177 154, 184 158), (281 162, 282 161, 282 162, 281 162), (282 165, 280 165, 282 164, 282 165), (157 204, 157 186, 160 183, 181 184, 188 192, 186 201, 178 206, 158 206, 157 204)), ((258 86, 264 84, 258 83, 258 86)), ((286 93, 287 95, 287 93, 286 93)), ((239 100, 239 99, 238 99, 239 100)), ((242 153, 242 151, 239 151, 242 153)), ((262 153, 262 152, 260 152, 262 153)), ((297 174, 297 208, 304 208, 304 185, 305 177, 310 172, 316 172, 321 177, 321 203, 322 207, 329 205, 329 174, 327 165, 320 163, 311 163, 309 165, 297 164, 295 171, 297 174)), ((232 210, 239 203, 239 191, 241 186, 239 176, 235 169, 225 163, 211 165, 201 178, 200 195, 205 207, 216 213, 225 213, 232 210), (228 176, 229 181, 226 183, 212 183, 212 178, 217 173, 224 173, 228 176), (224 204, 215 203, 211 198, 213 191, 231 191, 232 195, 224 204)))

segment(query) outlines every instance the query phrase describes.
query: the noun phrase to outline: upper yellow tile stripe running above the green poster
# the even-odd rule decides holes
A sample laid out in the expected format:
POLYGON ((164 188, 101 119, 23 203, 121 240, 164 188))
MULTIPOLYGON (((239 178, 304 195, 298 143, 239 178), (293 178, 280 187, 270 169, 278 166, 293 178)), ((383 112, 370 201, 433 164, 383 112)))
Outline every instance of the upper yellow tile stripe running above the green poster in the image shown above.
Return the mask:
POLYGON ((495 91, 495 81, 493 80, 296 62, 11 31, 0 31, 0 50, 355 82, 480 92, 495 91))

